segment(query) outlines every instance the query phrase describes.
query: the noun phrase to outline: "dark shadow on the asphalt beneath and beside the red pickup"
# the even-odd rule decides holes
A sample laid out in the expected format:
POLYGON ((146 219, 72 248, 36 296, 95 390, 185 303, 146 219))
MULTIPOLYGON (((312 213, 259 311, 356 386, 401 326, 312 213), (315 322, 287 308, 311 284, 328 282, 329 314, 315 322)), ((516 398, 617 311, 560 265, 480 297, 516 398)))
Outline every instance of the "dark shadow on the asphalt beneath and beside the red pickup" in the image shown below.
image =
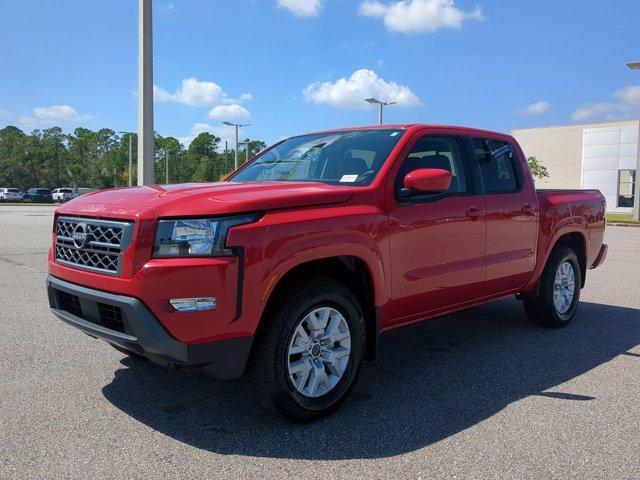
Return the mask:
MULTIPOLYGON (((335 414, 292 425, 250 405, 237 383, 217 384, 146 361, 105 386, 117 408, 176 440, 221 454, 340 460, 379 458, 454 435, 640 344, 640 310, 583 303, 561 330, 529 323, 518 302, 493 302, 383 336, 335 414)), ((636 355, 636 354, 631 354, 636 355)))

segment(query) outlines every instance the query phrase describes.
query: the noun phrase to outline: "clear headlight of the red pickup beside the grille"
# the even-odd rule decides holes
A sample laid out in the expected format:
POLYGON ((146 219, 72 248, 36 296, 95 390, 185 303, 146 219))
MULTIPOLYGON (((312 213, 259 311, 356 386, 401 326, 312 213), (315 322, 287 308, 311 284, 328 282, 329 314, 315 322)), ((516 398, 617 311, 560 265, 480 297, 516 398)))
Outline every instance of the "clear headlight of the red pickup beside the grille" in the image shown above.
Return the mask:
POLYGON ((183 218, 159 220, 153 256, 166 257, 226 257, 233 249, 226 247, 231 227, 255 222, 255 214, 220 218, 183 218))

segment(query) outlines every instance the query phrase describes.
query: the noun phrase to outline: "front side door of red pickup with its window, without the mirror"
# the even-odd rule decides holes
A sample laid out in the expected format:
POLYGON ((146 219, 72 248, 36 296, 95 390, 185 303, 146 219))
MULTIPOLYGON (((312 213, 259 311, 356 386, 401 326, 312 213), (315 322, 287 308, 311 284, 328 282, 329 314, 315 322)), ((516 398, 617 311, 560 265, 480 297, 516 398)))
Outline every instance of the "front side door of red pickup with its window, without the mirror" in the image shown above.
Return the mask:
POLYGON ((483 197, 475 194, 468 160, 461 138, 421 134, 390 177, 392 324, 420 319, 479 294, 486 223, 483 197), (449 170, 449 190, 401 199, 404 176, 417 168, 449 170))

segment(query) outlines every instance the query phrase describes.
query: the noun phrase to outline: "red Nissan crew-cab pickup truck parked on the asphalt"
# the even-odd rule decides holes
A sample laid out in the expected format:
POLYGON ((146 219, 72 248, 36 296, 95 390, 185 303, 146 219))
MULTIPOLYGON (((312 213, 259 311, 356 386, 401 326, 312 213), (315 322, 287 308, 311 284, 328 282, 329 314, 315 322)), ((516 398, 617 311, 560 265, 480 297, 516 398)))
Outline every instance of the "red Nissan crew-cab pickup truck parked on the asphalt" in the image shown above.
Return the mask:
POLYGON ((600 265, 597 190, 536 191, 516 141, 436 125, 292 137, 227 181, 84 195, 55 214, 53 313, 295 421, 337 408, 381 333, 517 295, 562 327, 600 265))

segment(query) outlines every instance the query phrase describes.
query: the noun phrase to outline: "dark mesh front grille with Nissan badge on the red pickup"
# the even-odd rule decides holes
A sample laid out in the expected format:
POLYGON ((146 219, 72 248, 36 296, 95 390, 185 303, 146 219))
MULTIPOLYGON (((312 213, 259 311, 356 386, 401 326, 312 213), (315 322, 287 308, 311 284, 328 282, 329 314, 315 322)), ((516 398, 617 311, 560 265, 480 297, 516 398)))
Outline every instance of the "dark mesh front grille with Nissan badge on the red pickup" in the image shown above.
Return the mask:
POLYGON ((81 270, 120 275, 122 254, 131 245, 133 222, 95 218, 58 217, 56 221, 55 261, 81 270), (74 232, 79 224, 86 239, 78 246, 74 232))

